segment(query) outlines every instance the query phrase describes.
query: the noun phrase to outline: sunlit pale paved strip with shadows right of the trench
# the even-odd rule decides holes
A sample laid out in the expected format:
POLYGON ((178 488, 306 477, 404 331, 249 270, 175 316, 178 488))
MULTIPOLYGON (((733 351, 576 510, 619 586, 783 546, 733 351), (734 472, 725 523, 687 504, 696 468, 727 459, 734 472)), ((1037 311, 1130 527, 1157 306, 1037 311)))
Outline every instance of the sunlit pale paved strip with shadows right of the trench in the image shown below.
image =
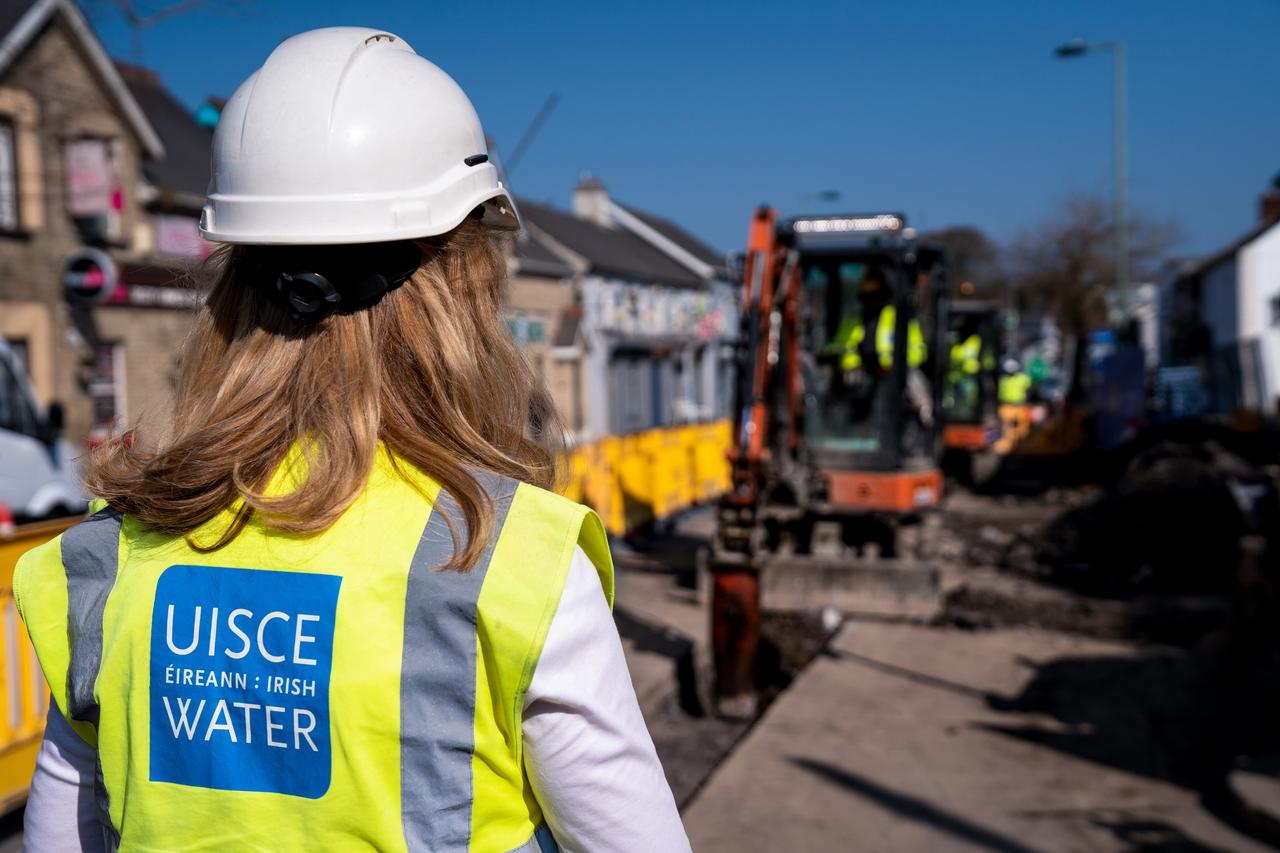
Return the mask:
POLYGON ((1125 698, 1142 657, 1036 630, 846 626, 686 809, 694 849, 1267 849, 1144 765, 1125 698), (1115 697, 1041 695, 1068 674, 1115 697))

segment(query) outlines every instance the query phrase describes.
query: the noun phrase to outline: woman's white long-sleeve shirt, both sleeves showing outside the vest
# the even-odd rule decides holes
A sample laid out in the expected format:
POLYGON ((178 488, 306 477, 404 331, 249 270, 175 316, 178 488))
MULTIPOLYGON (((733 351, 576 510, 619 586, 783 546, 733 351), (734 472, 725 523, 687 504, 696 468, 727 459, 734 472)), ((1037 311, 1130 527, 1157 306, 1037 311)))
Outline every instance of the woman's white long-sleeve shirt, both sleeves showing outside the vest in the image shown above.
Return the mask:
MULTIPOLYGON (((613 615, 581 549, 529 685, 522 731, 525 770, 562 850, 689 850, 613 615)), ((50 707, 31 780, 24 849, 104 849, 93 808, 96 758, 50 707)))

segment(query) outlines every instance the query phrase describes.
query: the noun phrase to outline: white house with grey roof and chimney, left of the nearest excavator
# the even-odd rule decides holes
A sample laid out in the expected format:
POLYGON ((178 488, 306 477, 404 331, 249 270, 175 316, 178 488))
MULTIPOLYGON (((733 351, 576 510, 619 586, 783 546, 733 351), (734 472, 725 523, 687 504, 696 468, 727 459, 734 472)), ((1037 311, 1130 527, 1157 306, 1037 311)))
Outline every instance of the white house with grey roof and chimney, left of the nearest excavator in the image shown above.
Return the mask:
POLYGON ((739 289, 724 259, 594 178, 572 211, 518 204, 529 232, 579 270, 552 350, 582 366, 579 441, 727 416, 739 289))

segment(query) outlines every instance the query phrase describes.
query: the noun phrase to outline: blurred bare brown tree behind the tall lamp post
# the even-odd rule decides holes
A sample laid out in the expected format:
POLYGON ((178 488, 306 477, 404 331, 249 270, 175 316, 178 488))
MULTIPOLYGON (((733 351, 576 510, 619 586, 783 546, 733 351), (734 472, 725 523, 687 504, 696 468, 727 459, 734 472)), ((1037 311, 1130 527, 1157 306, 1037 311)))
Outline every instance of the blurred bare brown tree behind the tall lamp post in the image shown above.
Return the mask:
MULTIPOLYGON (((1129 220, 1132 279, 1153 277, 1179 241, 1169 222, 1129 220)), ((1019 307, 1046 314, 1076 346, 1073 391, 1079 392, 1089 332, 1110 324, 1107 296, 1115 287, 1115 225, 1111 205, 1097 196, 1074 196, 1014 240, 1010 272, 1019 307)))

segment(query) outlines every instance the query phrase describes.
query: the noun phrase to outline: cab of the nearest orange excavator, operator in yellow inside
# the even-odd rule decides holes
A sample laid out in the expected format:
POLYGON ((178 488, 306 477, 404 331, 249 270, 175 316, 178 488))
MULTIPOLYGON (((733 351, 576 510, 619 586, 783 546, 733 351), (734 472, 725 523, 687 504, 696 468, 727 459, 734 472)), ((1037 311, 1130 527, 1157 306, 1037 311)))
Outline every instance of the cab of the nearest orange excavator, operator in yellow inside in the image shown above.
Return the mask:
POLYGON ((799 457, 813 471, 810 500, 827 510, 908 514, 941 496, 943 254, 893 227, 901 216, 841 219, 887 227, 782 225, 799 255, 799 457))

